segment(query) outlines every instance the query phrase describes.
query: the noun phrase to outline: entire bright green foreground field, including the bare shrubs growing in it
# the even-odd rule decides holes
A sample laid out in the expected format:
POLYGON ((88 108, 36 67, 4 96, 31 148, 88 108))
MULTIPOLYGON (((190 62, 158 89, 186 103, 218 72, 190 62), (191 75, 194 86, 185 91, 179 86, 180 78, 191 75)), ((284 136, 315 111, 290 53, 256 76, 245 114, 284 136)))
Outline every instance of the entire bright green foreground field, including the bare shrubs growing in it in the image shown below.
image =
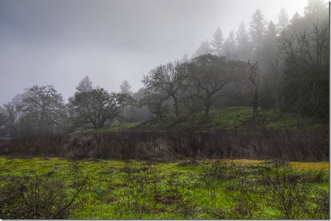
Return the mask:
POLYGON ((328 162, 0 158, 0 218, 329 218, 328 162))

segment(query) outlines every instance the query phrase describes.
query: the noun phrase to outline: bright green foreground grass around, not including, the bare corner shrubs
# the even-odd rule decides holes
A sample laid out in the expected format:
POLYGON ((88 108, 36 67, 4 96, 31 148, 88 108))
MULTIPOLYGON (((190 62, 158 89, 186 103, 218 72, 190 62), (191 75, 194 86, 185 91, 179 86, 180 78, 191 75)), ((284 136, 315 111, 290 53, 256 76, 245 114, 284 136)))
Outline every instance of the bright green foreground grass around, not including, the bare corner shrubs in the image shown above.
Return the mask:
MULTIPOLYGON (((297 197, 294 200, 307 201, 307 205, 300 205, 305 207, 305 211, 295 203, 295 207, 291 207, 299 208, 297 218, 318 218, 316 214, 319 213, 314 208, 320 205, 317 199, 326 203, 319 191, 326 191, 328 196, 328 169, 328 162, 292 163, 289 167, 276 167, 253 160, 157 163, 0 158, 0 177, 20 176, 31 170, 37 174, 53 172, 56 179, 66 177, 68 190, 73 190, 74 180, 88 176, 86 188, 67 217, 74 219, 284 218, 281 208, 277 208, 272 198, 270 185, 267 185, 275 175, 280 178, 293 177, 295 180, 291 182, 295 183, 295 187, 304 187, 287 190, 289 187, 281 186, 282 183, 276 186, 292 191, 297 197), (269 180, 265 179, 268 176, 269 180), (310 195, 305 196, 306 193, 310 195)), ((4 181, 0 181, 0 189, 5 185, 4 181)), ((0 196, 3 200, 4 195, 0 196)), ((320 214, 326 217, 323 212, 320 214)))

